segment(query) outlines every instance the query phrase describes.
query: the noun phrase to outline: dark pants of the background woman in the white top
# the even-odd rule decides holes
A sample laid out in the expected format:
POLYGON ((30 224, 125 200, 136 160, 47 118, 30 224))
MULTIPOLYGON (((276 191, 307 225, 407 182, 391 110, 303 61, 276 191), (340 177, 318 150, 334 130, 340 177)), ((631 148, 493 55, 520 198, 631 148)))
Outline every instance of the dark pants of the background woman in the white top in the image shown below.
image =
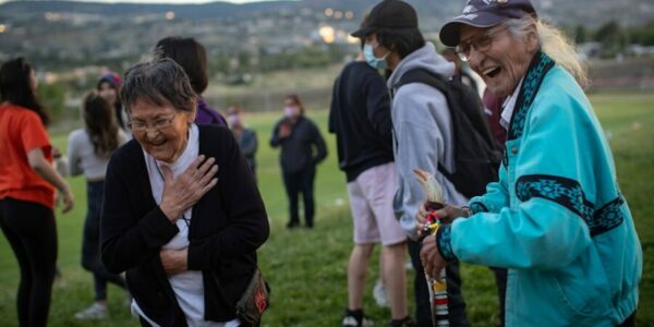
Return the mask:
POLYGON ((87 211, 82 240, 82 267, 93 274, 95 301, 107 299, 107 282, 112 282, 123 289, 125 280, 116 274, 107 271, 100 259, 100 210, 105 182, 86 183, 87 211))

